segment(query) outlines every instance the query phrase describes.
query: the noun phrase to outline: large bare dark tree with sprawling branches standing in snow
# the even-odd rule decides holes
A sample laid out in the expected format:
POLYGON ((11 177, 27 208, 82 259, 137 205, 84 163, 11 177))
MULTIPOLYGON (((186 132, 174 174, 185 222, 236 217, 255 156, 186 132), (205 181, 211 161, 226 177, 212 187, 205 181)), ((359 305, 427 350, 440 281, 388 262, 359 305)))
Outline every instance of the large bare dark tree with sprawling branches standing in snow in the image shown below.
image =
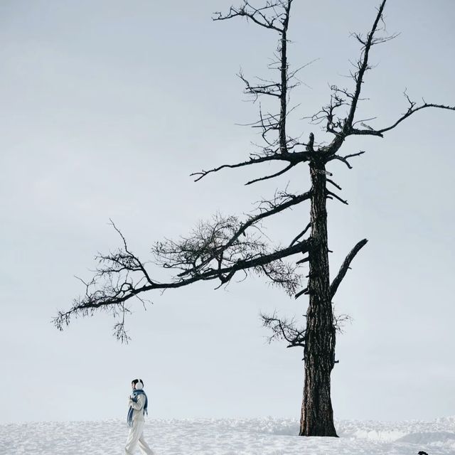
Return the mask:
MULTIPOLYGON (((133 297, 143 301, 147 291, 184 287, 194 282, 215 280, 218 287, 227 284, 237 274, 255 273, 263 275, 273 284, 282 287, 287 294, 298 298, 306 295, 309 304, 306 311, 306 325, 296 326, 294 319, 281 319, 276 313, 262 315, 264 326, 271 329, 271 340, 280 339, 288 347, 304 350, 305 380, 304 397, 301 407, 300 434, 304 436, 336 437, 331 405, 331 371, 336 363, 335 343, 338 322, 333 315, 333 297, 343 281, 355 255, 365 246, 367 240, 360 240, 348 253, 338 273, 330 278, 327 243, 327 199, 346 204, 339 196, 341 187, 331 179, 326 166, 334 160, 342 161, 351 168, 350 160, 363 154, 341 154, 341 147, 351 136, 369 135, 384 137, 405 119, 416 112, 434 107, 455 110, 455 107, 428 103, 417 104, 405 93, 407 110, 395 122, 383 127, 373 127, 373 119, 357 119, 358 105, 365 74, 371 69, 370 52, 375 45, 385 43, 395 35, 385 36, 382 14, 386 0, 378 7, 373 26, 365 35, 354 34, 360 43, 360 55, 350 72, 352 87, 331 86, 331 98, 327 105, 311 116, 313 124, 322 124, 326 133, 331 134, 327 144, 317 143, 313 132, 306 143, 289 136, 287 118, 289 94, 298 85, 296 73, 290 70, 287 60, 287 38, 291 6, 294 0, 267 0, 262 7, 255 7, 243 0, 239 7, 231 7, 227 14, 216 13, 215 21, 232 18, 246 18, 257 26, 268 29, 278 36, 275 60, 270 65, 279 76, 277 79, 257 78, 245 82, 245 92, 257 97, 269 97, 278 102, 277 110, 264 112, 259 109, 259 119, 252 127, 259 129, 263 144, 259 151, 250 154, 249 159, 237 164, 223 164, 208 171, 192 174, 196 181, 225 168, 253 166, 269 161, 282 163, 282 168, 270 175, 252 178, 247 185, 281 176, 300 164, 308 164, 311 188, 304 193, 294 194, 287 190, 277 191, 269 200, 262 200, 255 212, 244 220, 237 216, 215 215, 207 222, 201 222, 186 237, 157 242, 153 247, 154 264, 174 272, 168 282, 159 282, 151 276, 146 263, 129 250, 122 233, 123 245, 107 255, 98 255, 99 267, 93 279, 85 283, 86 292, 75 299, 68 311, 59 312, 55 325, 61 329, 70 323, 73 316, 92 316, 95 311, 112 311, 118 316, 115 334, 122 341, 128 336, 124 328, 124 316, 133 297), (267 218, 282 213, 288 208, 308 201, 309 222, 296 226, 294 239, 288 246, 273 245, 262 234, 261 223, 267 218), (299 255, 296 259, 295 256, 299 255), (303 255, 303 256, 302 256, 303 255), (292 259, 292 260, 291 260, 292 259), (299 267, 308 262, 307 283, 301 289, 302 272, 299 267)), ((303 67, 302 67, 303 68, 303 67)))

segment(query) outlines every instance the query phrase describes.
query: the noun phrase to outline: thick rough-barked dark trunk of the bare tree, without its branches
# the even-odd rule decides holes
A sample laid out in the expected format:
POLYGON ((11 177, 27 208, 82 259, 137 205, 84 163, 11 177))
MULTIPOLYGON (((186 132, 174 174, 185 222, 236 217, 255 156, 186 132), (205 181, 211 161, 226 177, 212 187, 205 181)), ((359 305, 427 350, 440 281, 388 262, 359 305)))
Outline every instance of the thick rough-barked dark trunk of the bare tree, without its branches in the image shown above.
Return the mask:
POLYGON ((304 348, 305 383, 300 436, 337 437, 331 403, 331 371, 335 363, 335 327, 328 268, 326 171, 322 161, 310 164, 311 240, 309 307, 304 348))

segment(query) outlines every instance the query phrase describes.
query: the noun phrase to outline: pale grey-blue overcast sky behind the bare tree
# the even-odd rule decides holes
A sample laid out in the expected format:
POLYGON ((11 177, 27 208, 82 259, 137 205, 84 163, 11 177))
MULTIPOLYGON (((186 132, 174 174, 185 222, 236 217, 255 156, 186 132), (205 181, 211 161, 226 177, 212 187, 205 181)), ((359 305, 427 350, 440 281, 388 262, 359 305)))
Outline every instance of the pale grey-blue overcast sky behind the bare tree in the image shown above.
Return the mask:
MULTIPOLYGON (((295 0, 289 61, 305 68, 290 132, 316 134, 301 117, 350 85, 358 55, 350 32, 368 31, 378 1, 295 0)), ((213 22, 230 0, 3 0, 0 2, 2 260, 1 422, 124 417, 133 378, 149 414, 298 417, 302 352, 269 346, 259 311, 297 316, 260 279, 152 294, 127 321, 132 343, 112 336, 112 316, 50 323, 83 291, 97 251, 119 245, 109 218, 146 259, 155 240, 185 234, 220 210, 242 214, 275 188, 306 191, 302 166, 245 187, 278 168, 225 171, 193 183, 201 168, 244 160, 255 121, 235 73, 267 76, 276 36, 245 21, 213 22)), ((374 49, 363 117, 384 127, 405 112, 402 92, 455 104, 452 0, 389 0, 374 49)), ((332 374, 339 419, 432 419, 455 414, 453 297, 455 112, 427 110, 385 139, 350 140, 367 154, 329 166, 349 205, 328 202, 332 276, 358 240, 369 242, 336 296, 353 321, 338 337, 332 374)), ((308 206, 275 220, 289 241, 308 206)), ((153 267, 151 274, 153 274, 153 267)))

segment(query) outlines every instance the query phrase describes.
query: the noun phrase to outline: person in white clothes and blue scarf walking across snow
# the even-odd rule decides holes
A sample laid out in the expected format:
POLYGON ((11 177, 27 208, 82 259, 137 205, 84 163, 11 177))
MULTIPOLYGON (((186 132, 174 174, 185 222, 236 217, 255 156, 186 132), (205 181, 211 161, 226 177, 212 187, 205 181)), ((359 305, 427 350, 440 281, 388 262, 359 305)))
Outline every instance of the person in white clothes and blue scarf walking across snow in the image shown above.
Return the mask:
POLYGON ((144 455, 155 455, 144 439, 144 414, 147 413, 148 400, 144 392, 144 382, 141 379, 132 380, 132 395, 128 398, 128 417, 127 423, 129 433, 127 445, 125 446, 125 455, 133 455, 134 449, 139 444, 139 450, 144 455))

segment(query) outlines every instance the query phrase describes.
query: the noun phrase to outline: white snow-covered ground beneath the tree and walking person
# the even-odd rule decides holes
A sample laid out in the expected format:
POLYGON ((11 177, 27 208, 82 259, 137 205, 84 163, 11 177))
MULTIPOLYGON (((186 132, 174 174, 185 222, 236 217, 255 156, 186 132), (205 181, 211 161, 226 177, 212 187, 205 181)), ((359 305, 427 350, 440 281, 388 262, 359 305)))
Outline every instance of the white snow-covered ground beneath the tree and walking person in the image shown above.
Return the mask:
MULTIPOLYGON (((157 455, 455 455, 455 417, 336 427, 339 438, 306 438, 291 419, 149 419, 145 434, 157 455)), ((120 420, 2 424, 0 454, 122 455, 126 436, 120 420)))

